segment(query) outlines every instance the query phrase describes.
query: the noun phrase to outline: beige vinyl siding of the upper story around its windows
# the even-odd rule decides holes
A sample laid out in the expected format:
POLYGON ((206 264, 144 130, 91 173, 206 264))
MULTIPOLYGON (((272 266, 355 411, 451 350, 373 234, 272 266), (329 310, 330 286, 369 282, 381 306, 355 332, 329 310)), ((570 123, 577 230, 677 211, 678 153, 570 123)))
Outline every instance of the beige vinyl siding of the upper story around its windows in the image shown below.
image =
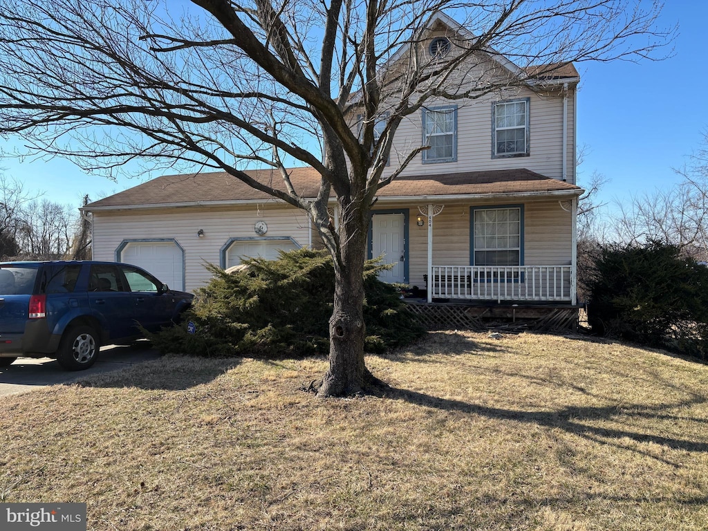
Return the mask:
MULTIPOLYGON (((574 91, 568 98, 568 181, 574 182, 574 91)), ((547 177, 563 176, 563 97, 561 91, 537 94, 530 90, 508 92, 503 96, 488 96, 475 101, 429 103, 430 108, 457 105, 457 161, 423 163, 423 156, 416 156, 402 175, 433 175, 462 171, 526 168, 547 177), (491 109, 493 101, 530 98, 530 156, 492 158, 491 109)), ((423 142, 422 111, 411 115, 399 126, 392 148, 392 163, 384 176, 396 169, 411 149, 423 142)))

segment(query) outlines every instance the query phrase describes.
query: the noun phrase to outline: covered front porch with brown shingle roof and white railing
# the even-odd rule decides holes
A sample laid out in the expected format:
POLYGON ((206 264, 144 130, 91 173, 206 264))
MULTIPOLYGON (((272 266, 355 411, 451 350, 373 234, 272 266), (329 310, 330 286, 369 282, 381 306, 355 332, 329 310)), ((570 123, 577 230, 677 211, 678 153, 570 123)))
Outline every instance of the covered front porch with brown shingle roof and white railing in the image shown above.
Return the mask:
POLYGON ((423 304, 576 307, 581 193, 525 169, 399 178, 377 196, 367 256, 423 304))

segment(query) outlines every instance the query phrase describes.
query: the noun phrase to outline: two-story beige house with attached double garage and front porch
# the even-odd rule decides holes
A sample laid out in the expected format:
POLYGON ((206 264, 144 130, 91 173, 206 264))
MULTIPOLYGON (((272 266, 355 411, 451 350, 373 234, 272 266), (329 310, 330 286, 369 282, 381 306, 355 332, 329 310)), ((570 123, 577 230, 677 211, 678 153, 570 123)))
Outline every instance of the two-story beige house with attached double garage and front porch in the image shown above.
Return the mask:
MULTIPOLYGON (((431 22, 430 54, 449 47, 454 24, 443 15, 431 22)), ((527 74, 527 86, 430 102, 401 123, 392 158, 412 145, 430 149, 377 195, 368 254, 393 264, 384 280, 416 286, 428 302, 576 304, 579 76, 572 65, 527 74)), ((314 170, 292 169, 291 178, 316 195, 314 170)), ((93 258, 141 265, 178 289, 207 282, 205 262, 228 268, 318 241, 304 212, 226 173, 156 178, 84 210, 93 213, 93 258)))

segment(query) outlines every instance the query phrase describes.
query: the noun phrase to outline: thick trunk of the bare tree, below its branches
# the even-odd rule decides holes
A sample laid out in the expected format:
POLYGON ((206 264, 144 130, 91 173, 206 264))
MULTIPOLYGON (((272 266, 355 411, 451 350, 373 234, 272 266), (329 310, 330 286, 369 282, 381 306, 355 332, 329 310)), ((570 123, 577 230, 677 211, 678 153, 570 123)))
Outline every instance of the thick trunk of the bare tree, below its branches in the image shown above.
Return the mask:
POLYGON ((364 260, 368 212, 350 207, 339 227, 341 261, 334 263, 334 309, 329 320, 329 370, 319 396, 347 396, 365 391, 373 381, 364 363, 364 260))

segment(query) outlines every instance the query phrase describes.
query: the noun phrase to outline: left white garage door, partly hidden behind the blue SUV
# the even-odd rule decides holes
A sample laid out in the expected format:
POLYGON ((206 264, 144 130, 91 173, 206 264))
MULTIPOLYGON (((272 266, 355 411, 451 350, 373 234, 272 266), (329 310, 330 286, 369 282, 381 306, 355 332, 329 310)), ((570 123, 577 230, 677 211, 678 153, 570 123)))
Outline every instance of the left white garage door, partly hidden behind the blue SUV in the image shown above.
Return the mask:
POLYGON ((184 290, 182 250, 173 241, 132 241, 120 261, 143 268, 173 290, 184 290))

